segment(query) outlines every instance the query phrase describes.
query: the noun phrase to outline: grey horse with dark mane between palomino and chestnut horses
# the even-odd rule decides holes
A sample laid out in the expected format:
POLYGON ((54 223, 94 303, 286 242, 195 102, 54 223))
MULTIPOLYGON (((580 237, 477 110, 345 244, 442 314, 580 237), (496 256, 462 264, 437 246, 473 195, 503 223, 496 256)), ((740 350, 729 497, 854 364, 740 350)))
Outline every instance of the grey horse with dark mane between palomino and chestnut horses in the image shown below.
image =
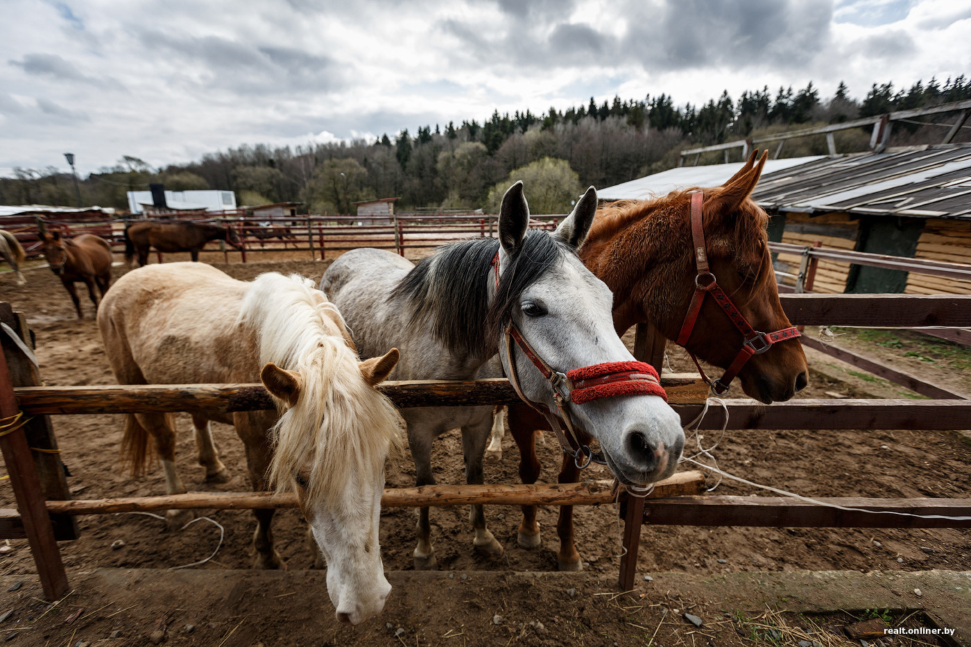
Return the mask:
MULTIPOLYGON (((522 184, 517 183, 503 196, 499 240, 446 245, 417 266, 389 252, 353 250, 327 268, 320 289, 347 318, 363 357, 387 344, 402 349, 397 379, 483 377, 495 369, 487 360, 498 353, 506 373, 518 376, 514 384, 520 396, 551 411, 563 404, 566 411, 561 413, 600 441, 605 460, 621 482, 657 481, 674 471, 685 443, 681 421, 658 396, 663 394, 659 386, 640 384, 633 391, 639 394, 610 401, 581 404, 574 398, 564 404, 562 386, 554 391, 543 369, 526 356, 529 352, 559 371, 593 372, 607 362, 613 366, 633 359, 610 320, 610 290, 576 253, 595 210, 596 191, 590 187, 555 232, 528 230, 529 208, 522 184)), ((455 427, 461 427, 466 482, 483 483, 483 450, 492 411, 491 406, 401 411, 419 486, 435 483, 432 441, 455 427)), ((481 505, 472 506, 471 522, 476 549, 500 555, 502 546, 485 528, 481 505)), ((422 508, 414 554, 417 568, 436 564, 430 533, 428 509, 422 508)))

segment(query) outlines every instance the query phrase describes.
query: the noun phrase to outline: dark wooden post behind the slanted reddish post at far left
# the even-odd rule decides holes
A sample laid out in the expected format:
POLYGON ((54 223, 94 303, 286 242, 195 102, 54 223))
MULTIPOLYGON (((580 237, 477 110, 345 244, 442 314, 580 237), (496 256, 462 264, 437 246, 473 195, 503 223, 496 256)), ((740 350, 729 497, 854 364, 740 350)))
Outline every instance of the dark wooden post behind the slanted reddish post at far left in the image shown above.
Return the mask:
MULTIPOLYGON (((15 313, 9 303, 0 303, 0 323, 9 325, 26 348, 31 349, 33 347, 26 318, 24 318, 23 313, 15 313)), ((9 343, 9 341, 4 340, 3 352, 14 387, 41 385, 38 367, 20 348, 9 343)), ((64 465, 60 459, 60 450, 57 447, 57 439, 54 436, 53 426, 50 425, 50 416, 34 416, 23 427, 23 432, 33 455, 34 466, 37 470, 37 477, 41 481, 41 493, 44 498, 71 498, 71 494, 68 492, 67 478, 64 474, 64 465)), ((78 527, 71 517, 51 518, 50 523, 54 528, 54 537, 58 541, 78 538, 78 527)))

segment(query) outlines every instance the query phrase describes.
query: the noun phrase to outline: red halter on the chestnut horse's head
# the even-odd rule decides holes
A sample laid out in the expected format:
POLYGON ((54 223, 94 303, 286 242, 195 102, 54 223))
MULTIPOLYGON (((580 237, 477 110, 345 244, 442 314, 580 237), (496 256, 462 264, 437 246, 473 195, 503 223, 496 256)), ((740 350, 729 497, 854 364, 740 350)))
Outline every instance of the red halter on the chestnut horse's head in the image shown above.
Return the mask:
POLYGON ((721 289, 718 281, 715 279, 715 275, 712 274, 708 266, 708 254, 705 251, 707 249, 705 247, 705 230, 701 221, 701 205, 703 201, 704 193, 702 191, 691 194, 691 238, 694 240, 694 259, 698 274, 694 277, 694 295, 691 297, 691 305, 687 308, 685 323, 681 326, 681 333, 678 335, 677 343, 687 350, 687 340, 691 336, 691 331, 694 330, 694 324, 698 322, 698 315, 701 312, 701 304, 705 300, 705 294, 711 292, 712 296, 715 297, 715 302, 728 315, 731 323, 734 323, 735 327, 742 333, 742 337, 745 339, 742 343, 742 350, 738 352, 738 355, 735 356, 735 359, 732 360, 731 364, 729 364, 728 368, 725 369, 725 372, 717 380, 712 380, 705 375, 704 369, 701 368, 701 364, 698 363, 698 359, 694 357, 693 353, 687 351, 687 354, 694 360, 694 365, 698 367, 701 378, 708 383, 712 392, 716 395, 724 395, 728 392, 728 385, 738 375, 738 372, 742 370, 742 366, 745 365, 745 362, 749 358, 752 358, 753 355, 765 353, 776 342, 795 339, 802 335, 794 325, 783 328, 782 330, 776 330, 775 332, 759 332, 755 330, 739 309, 735 307, 735 304, 731 302, 728 294, 721 289))

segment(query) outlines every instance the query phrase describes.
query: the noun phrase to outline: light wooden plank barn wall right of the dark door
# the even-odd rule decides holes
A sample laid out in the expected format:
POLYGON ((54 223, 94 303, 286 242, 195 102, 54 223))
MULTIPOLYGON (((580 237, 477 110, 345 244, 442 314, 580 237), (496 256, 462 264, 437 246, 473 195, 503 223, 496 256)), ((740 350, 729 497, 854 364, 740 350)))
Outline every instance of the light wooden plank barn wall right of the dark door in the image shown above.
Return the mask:
MULTIPOLYGON (((923 225, 915 258, 971 265, 971 221, 930 219, 923 225)), ((971 281, 911 272, 908 294, 971 294, 971 281)))

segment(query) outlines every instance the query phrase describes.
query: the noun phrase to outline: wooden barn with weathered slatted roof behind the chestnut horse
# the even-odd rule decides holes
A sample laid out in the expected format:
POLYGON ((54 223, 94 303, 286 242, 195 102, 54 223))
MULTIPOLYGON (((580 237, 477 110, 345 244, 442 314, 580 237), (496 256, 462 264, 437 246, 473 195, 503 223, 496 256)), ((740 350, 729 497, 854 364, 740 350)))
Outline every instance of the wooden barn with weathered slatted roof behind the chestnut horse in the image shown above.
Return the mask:
MULTIPOLYGON (((616 200, 638 197, 634 191, 645 197, 716 186, 739 166, 672 169, 600 195, 616 200)), ((776 242, 971 264, 969 144, 768 160, 753 197, 772 216, 769 239, 776 242)), ((799 262, 780 254, 776 269, 794 274, 799 262)), ((971 283, 820 259, 814 291, 967 294, 971 283)))

